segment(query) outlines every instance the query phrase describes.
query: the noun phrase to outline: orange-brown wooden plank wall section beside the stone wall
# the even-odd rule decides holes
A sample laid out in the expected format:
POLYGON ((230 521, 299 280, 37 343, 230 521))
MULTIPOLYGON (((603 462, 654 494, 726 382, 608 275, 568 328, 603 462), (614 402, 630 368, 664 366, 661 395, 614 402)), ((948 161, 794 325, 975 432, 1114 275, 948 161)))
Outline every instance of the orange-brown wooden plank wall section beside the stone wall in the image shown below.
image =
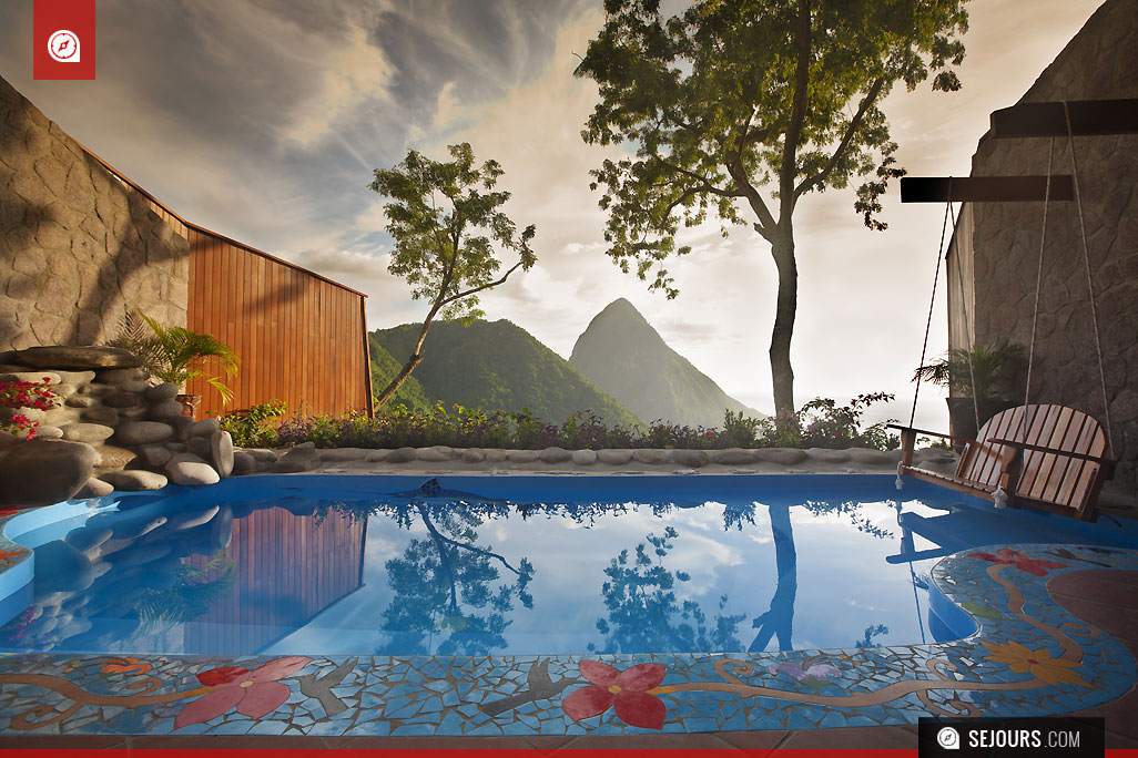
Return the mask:
POLYGON ((363 295, 312 272, 188 225, 187 327, 213 334, 241 358, 222 381, 233 399, 195 380, 198 418, 283 400, 288 416, 371 414, 363 295))

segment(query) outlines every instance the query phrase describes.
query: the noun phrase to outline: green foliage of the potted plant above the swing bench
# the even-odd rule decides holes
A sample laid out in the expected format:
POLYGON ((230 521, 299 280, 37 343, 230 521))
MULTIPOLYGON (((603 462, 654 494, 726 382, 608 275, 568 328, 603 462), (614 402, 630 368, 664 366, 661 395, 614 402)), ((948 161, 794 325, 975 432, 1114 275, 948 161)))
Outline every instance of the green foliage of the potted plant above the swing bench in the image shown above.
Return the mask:
POLYGON ((913 381, 947 386, 955 398, 971 398, 975 376, 981 399, 1013 400, 1023 394, 1026 366, 1023 345, 1003 339, 972 350, 954 348, 946 357, 913 372, 913 381))

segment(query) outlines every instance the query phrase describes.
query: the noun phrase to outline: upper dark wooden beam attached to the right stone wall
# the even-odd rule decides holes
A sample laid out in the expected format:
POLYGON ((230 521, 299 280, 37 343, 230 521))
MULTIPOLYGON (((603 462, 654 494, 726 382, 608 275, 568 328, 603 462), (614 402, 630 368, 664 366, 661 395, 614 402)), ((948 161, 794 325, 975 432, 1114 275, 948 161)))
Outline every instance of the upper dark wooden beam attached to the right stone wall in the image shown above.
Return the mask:
MULTIPOLYGON (((1138 134, 1138 99, 1072 100, 1071 133, 1138 134)), ((1067 123, 1062 102, 1023 102, 992 111, 991 136, 1066 136, 1067 123)))

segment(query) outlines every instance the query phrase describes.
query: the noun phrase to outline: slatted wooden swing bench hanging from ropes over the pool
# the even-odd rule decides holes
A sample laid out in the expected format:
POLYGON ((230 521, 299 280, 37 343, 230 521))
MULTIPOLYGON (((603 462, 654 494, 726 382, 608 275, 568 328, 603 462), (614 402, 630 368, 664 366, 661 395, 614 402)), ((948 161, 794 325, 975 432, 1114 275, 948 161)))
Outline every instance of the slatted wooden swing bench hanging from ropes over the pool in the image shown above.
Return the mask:
POLYGON ((1103 482, 1114 475, 1104 457, 1106 434, 1087 414, 1054 405, 1009 408, 992 416, 975 440, 891 425, 901 432, 898 474, 1012 507, 1033 506, 1092 522, 1103 482), (1025 416, 1026 414, 1026 416, 1025 416), (964 442, 955 475, 917 468, 918 434, 964 442))

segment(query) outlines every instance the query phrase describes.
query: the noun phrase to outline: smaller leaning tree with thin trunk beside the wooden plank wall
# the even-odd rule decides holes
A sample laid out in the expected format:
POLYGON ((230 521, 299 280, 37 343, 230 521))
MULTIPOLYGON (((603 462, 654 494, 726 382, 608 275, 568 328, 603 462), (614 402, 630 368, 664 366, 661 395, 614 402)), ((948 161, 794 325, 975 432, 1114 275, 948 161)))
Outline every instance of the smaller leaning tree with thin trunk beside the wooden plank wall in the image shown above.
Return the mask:
POLYGON ((510 193, 494 191, 503 173, 497 161, 476 167, 467 142, 447 149, 454 158, 450 163, 410 150, 394 168, 377 168, 371 183, 372 190, 391 199, 384 206, 387 232, 395 238, 387 270, 411 284, 412 298, 430 301, 411 357, 379 393, 377 408, 390 400, 422 363, 423 341, 436 316, 446 320, 481 316, 478 293, 502 284, 519 268, 529 270, 537 260, 529 248, 534 225, 519 235, 514 223, 500 210, 510 193), (502 263, 495 243, 518 256, 497 278, 494 276, 502 263))

